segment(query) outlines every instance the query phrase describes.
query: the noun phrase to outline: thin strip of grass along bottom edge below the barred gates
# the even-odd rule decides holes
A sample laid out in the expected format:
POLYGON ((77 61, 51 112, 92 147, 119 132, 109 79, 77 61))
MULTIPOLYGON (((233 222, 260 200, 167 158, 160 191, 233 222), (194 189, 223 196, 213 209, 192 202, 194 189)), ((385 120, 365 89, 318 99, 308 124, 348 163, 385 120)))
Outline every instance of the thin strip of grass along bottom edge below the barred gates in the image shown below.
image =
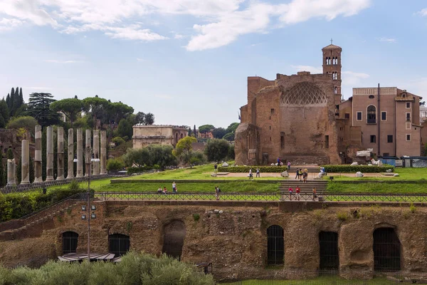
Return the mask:
POLYGON ((232 283, 223 283, 223 285, 389 285, 396 284, 385 278, 374 278, 370 280, 346 280, 339 276, 320 276, 315 279, 303 280, 246 280, 232 283))

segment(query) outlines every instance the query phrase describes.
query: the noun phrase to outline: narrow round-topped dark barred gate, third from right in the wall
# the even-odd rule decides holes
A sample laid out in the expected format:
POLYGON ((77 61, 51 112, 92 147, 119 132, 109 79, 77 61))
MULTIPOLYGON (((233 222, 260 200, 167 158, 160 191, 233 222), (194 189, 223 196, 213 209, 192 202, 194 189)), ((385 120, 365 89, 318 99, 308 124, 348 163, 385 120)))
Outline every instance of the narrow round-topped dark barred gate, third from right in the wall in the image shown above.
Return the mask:
POLYGON ((273 225, 267 229, 267 264, 284 264, 285 240, 283 227, 273 225))

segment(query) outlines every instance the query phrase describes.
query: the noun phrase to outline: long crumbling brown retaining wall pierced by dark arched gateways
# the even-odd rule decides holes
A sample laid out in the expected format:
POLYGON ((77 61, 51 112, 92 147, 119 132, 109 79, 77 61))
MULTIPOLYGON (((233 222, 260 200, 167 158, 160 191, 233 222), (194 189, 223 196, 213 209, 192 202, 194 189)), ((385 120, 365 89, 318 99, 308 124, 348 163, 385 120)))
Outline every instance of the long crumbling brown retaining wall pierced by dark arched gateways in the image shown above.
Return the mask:
MULTIPOLYGON (((161 254, 165 225, 185 224, 181 260, 213 263, 218 279, 244 272, 246 278, 287 277, 282 270, 315 271, 320 266, 319 233, 337 232, 339 270, 374 270, 373 232, 393 227, 401 242, 403 271, 427 271, 427 209, 417 207, 330 207, 290 211, 299 203, 285 203, 283 212, 273 203, 260 207, 219 205, 168 206, 144 202, 95 202, 97 219, 91 222, 92 252, 108 252, 108 234, 130 236, 130 248, 161 254), (221 212, 219 212, 220 210, 221 212), (196 219, 196 215, 199 219, 196 219), (284 229, 284 265, 265 269, 270 225, 284 229)), ((307 203, 306 203, 307 204, 307 203)), ((318 203, 313 203, 318 204, 318 203)), ((322 204, 318 204, 322 206, 322 204)), ((253 206, 253 205, 252 205, 253 206)), ((307 207, 311 207, 308 203, 307 207)), ((43 224, 27 227, 14 240, 0 242, 0 261, 5 266, 37 266, 62 254, 62 233, 79 234, 78 252, 86 251, 87 222, 80 219, 80 204, 43 224)))

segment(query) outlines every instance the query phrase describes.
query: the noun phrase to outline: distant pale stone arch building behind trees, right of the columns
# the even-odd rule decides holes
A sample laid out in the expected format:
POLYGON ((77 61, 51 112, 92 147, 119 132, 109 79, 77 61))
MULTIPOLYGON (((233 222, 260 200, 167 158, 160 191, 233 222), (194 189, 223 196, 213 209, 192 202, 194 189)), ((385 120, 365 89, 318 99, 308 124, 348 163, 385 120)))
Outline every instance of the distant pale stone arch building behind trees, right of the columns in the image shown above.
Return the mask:
POLYGON ((133 148, 142 148, 147 145, 172 145, 189 135, 188 127, 176 125, 134 125, 133 148))

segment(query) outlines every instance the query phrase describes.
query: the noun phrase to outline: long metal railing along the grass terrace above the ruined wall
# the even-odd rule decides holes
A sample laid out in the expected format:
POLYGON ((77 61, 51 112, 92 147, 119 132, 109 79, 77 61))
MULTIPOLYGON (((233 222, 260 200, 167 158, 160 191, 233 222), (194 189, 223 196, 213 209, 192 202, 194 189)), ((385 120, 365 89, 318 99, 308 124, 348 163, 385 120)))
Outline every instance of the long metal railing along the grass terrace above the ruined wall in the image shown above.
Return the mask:
POLYGON ((298 197, 295 193, 288 192, 271 193, 240 193, 221 192, 218 197, 213 192, 178 192, 159 194, 157 192, 95 192, 95 198, 101 201, 107 200, 179 200, 179 201, 292 201, 292 202, 427 202, 425 194, 312 194, 301 193, 298 197))

